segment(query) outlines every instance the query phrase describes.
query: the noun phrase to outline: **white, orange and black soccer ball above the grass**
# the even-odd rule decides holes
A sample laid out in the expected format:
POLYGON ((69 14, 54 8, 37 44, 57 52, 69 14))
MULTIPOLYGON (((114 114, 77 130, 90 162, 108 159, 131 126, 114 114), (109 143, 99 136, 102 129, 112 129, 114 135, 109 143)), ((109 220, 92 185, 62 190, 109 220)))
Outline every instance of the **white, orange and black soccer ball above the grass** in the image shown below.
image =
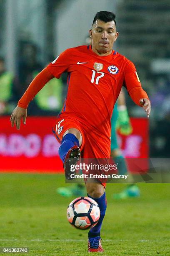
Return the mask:
POLYGON ((97 224, 99 218, 99 206, 90 197, 78 197, 67 207, 67 220, 75 228, 92 228, 97 224))

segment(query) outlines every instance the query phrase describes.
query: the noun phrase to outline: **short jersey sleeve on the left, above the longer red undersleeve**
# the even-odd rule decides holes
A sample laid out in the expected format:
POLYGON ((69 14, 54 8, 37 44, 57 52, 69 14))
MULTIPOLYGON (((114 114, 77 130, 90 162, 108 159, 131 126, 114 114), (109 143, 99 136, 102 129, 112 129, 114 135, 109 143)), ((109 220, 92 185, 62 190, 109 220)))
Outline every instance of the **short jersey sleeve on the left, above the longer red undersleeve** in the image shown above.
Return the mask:
POLYGON ((52 61, 48 66, 47 69, 53 74, 54 77, 60 78, 63 72, 67 72, 69 68, 69 58, 70 57, 70 49, 63 51, 57 58, 52 61))

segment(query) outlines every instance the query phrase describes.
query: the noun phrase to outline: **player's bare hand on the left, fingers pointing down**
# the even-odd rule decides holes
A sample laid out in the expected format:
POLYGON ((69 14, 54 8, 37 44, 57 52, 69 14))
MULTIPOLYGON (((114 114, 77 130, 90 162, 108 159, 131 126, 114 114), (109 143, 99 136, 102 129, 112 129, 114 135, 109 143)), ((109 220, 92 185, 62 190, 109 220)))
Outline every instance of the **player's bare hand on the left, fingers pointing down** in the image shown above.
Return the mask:
POLYGON ((10 122, 12 127, 14 127, 14 123, 15 123, 17 130, 20 130, 20 124, 21 124, 22 118, 23 118, 23 124, 26 124, 27 109, 20 108, 17 106, 15 110, 13 110, 13 113, 10 117, 10 122))

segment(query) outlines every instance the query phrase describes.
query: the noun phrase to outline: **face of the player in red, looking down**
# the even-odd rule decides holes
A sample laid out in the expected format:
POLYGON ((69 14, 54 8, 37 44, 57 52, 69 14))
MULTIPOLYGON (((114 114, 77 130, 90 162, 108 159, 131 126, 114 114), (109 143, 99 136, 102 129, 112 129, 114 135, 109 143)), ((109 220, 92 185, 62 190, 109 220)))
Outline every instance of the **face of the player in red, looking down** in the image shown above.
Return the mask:
POLYGON ((102 20, 96 20, 92 29, 90 29, 92 50, 98 55, 110 54, 117 36, 118 32, 116 32, 114 20, 107 23, 102 20))

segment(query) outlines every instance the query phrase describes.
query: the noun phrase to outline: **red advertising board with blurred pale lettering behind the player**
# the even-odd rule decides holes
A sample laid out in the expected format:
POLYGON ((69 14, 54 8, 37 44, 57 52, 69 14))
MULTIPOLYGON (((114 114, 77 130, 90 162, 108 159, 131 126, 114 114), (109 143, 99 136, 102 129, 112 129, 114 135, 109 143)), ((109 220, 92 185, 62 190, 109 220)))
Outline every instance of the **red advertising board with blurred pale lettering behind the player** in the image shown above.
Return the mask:
MULTIPOLYGON (((63 172, 52 134, 55 117, 28 117, 20 131, 11 127, 9 116, 0 117, 0 123, 0 172, 63 172)), ((148 158, 148 120, 131 118, 131 123, 130 136, 118 134, 122 152, 127 158, 148 158)))

